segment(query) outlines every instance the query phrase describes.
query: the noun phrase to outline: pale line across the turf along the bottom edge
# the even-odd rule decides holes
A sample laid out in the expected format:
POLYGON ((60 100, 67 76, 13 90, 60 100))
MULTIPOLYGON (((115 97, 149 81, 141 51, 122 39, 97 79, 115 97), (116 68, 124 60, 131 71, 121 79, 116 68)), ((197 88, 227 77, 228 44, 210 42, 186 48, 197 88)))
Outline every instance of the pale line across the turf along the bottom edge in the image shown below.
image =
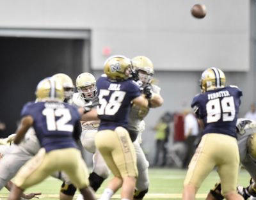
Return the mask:
MULTIPOLYGON (((0 197, 2 198, 7 198, 9 195, 8 194, 0 194, 0 197)), ((101 196, 101 194, 96 194, 95 195, 97 198, 99 198, 101 196)), ((196 198, 205 198, 207 196, 207 194, 196 194, 196 198)), ((42 194, 40 196, 38 196, 39 199, 43 199, 43 198, 49 198, 49 199, 59 199, 59 194, 42 194)), ((75 198, 77 197, 77 195, 75 195, 75 198)), ((182 198, 182 194, 163 194, 163 193, 150 193, 150 194, 146 194, 145 199, 166 199, 166 198, 170 198, 170 199, 181 199, 182 198)), ((115 194, 113 195, 114 199, 120 199, 120 194, 115 194)))

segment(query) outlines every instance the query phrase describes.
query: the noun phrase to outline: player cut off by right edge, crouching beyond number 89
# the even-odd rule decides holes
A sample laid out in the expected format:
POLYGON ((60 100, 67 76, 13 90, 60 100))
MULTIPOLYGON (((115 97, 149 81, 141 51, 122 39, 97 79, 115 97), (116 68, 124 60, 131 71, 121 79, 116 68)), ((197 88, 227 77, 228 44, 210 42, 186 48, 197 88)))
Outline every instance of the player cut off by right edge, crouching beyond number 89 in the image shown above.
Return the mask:
MULTIPOLYGON (((241 165, 243 165, 244 169, 246 169, 252 177, 252 181, 250 181, 251 184, 248 187, 243 188, 239 186, 237 190, 244 199, 248 199, 250 196, 256 196, 256 121, 239 118, 237 119, 236 131, 241 165)), ((221 194, 220 182, 216 183, 215 187, 210 190, 207 196, 207 200, 214 199, 224 199, 221 194)))

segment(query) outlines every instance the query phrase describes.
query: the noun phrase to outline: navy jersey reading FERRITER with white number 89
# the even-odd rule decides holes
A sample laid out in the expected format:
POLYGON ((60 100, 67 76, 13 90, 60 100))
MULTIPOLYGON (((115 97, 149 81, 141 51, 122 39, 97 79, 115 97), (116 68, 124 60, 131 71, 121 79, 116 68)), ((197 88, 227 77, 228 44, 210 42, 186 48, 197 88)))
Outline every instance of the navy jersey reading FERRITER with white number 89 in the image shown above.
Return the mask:
POLYGON ((242 91, 236 86, 207 91, 193 98, 196 117, 204 120, 202 134, 219 133, 236 137, 237 113, 242 91))

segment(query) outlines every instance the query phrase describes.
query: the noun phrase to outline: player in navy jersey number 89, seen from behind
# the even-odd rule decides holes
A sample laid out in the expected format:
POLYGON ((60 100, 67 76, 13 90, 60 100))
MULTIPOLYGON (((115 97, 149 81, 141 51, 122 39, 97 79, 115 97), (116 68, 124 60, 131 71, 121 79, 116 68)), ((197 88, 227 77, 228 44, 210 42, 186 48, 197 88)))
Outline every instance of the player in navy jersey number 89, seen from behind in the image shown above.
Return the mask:
POLYGON ((202 73, 202 94, 193 98, 191 107, 204 130, 189 163, 182 199, 195 199, 202 181, 214 167, 220 176, 223 196, 242 199, 236 192, 239 170, 236 121, 243 94, 236 86, 225 86, 225 82, 225 74, 218 68, 208 68, 202 73))

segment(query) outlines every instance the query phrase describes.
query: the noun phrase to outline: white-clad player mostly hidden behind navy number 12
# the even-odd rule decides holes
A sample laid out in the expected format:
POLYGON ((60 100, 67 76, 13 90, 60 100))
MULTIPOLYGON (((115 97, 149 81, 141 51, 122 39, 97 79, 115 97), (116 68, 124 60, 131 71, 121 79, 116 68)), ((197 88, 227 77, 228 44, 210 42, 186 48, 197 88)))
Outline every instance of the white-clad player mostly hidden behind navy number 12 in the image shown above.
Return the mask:
MULTIPOLYGON (((72 80, 65 73, 57 73, 52 77, 59 79, 63 84, 65 92, 65 101, 68 102, 74 93, 74 86, 72 87, 72 80), (72 89, 73 88, 73 89, 72 89), (68 92, 69 91, 69 92, 68 92)), ((38 150, 40 144, 35 135, 35 130, 29 128, 25 135, 25 138, 19 145, 12 144, 10 150, 4 155, 3 159, 0 160, 0 190, 10 181, 13 176, 17 173, 22 165, 24 165, 30 158, 32 158, 38 150)), ((55 173, 52 174, 55 178, 65 180, 65 174, 55 173)))

